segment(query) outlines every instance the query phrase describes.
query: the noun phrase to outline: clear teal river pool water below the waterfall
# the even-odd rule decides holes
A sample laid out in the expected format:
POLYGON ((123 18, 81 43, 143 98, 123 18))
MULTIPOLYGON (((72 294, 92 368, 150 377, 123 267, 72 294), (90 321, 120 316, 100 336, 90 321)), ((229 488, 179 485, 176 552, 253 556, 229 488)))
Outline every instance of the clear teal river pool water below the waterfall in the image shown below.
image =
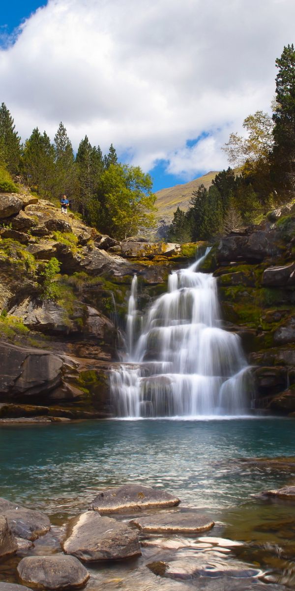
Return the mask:
MULTIPOLYGON (((127 482, 163 488, 181 498, 180 508, 202 508, 212 515, 217 525, 209 535, 245 541, 239 560, 260 564, 267 576, 287 576, 292 583, 295 565, 290 558, 278 557, 276 548, 295 547, 295 507, 251 495, 284 485, 295 473, 235 460, 291 456, 293 441, 294 421, 287 418, 6 426, 0 430, 0 496, 41 509, 53 524, 62 525, 86 510, 101 488, 127 482)), ((36 553, 47 553, 45 541, 41 544, 36 553)), ((108 590, 153 591, 158 577, 153 575, 154 583, 149 579, 142 587, 137 579, 150 552, 143 548, 142 558, 124 565, 93 567, 90 588, 106 589, 112 575, 122 584, 112 583, 108 590)), ((153 552, 159 559, 160 550, 153 552)), ((15 581, 18 560, 0 565, 0 581, 15 581)), ((146 576, 148 572, 150 577, 148 569, 143 571, 146 576)))

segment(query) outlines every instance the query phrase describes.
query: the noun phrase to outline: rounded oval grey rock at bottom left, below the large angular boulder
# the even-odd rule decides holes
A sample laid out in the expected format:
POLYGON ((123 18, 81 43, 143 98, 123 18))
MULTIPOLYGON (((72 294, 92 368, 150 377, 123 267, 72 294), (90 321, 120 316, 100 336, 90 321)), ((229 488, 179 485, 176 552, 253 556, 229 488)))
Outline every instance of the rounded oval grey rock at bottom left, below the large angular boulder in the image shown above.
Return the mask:
POLYGON ((27 556, 18 564, 22 583, 38 589, 77 589, 89 579, 89 572, 74 556, 27 556))

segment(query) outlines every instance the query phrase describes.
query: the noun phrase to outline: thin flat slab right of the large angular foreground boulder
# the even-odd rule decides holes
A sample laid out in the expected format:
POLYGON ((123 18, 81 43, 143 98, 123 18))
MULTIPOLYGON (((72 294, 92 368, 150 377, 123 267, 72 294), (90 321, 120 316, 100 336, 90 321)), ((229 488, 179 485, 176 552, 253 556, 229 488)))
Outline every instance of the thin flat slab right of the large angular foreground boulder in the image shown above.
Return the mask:
POLYGON ((130 524, 147 533, 196 534, 211 530, 214 521, 208 515, 199 513, 160 513, 138 517, 130 521, 130 524))

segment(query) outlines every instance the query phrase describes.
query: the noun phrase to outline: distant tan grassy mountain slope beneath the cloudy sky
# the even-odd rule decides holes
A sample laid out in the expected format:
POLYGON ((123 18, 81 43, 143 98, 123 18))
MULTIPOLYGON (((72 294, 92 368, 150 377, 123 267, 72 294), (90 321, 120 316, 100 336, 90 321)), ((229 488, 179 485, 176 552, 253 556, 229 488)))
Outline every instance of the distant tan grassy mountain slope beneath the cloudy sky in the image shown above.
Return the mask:
POLYGON ((156 213, 156 217, 159 220, 165 220, 165 223, 171 223, 173 213, 177 207, 179 206, 186 211, 189 207, 192 192, 196 191, 201 184, 204 184, 209 189, 216 174, 218 174, 218 171, 211 171, 202 177, 194 178, 189 183, 179 184, 175 187, 168 187, 168 189, 157 191, 156 207, 158 207, 158 212, 156 213))

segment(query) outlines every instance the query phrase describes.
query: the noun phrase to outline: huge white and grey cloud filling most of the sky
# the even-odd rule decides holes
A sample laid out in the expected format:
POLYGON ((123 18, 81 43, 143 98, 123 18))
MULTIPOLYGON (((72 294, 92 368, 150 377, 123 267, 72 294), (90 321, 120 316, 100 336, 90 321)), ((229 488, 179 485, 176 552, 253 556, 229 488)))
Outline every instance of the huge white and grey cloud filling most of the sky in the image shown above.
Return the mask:
POLYGON ((1 100, 24 139, 63 121, 74 148, 87 134, 192 178, 269 109, 294 18, 293 0, 49 0, 0 51, 1 100))

